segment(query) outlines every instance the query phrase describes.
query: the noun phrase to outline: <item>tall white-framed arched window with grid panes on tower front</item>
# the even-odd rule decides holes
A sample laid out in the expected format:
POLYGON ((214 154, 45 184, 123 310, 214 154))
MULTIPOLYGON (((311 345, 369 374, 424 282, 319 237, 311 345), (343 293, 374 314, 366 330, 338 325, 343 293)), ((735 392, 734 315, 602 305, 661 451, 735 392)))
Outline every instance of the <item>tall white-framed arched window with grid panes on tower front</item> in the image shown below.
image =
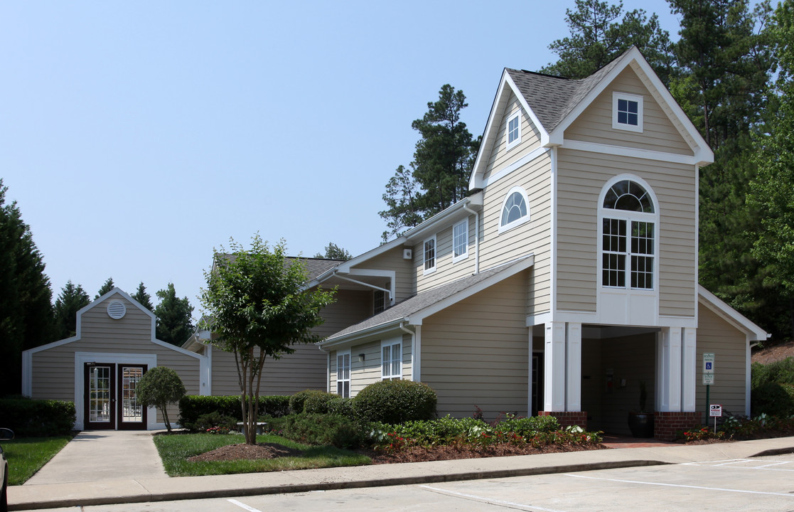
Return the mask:
POLYGON ((601 206, 601 284, 653 290, 656 212, 651 194, 622 179, 607 189, 601 206))

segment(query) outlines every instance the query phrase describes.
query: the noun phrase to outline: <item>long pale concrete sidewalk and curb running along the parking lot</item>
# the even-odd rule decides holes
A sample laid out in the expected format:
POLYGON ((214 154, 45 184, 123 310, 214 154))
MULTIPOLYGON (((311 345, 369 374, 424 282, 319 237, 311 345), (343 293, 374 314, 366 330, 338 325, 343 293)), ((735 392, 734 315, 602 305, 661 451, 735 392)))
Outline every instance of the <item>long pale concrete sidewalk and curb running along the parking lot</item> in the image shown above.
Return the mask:
MULTIPOLYGON (((94 435, 95 433, 87 434, 94 435)), ((75 437, 75 439, 77 438, 75 437)), ((151 441, 149 442, 151 443, 151 441)), ((153 445, 153 443, 151 444, 153 445)), ((159 474, 140 477, 123 476, 82 483, 25 484, 10 487, 8 499, 9 510, 34 510, 66 506, 222 498, 503 478, 657 464, 684 464, 707 460, 746 459, 753 456, 792 452, 794 452, 794 437, 782 437, 713 445, 618 448, 590 452, 441 460, 411 464, 380 464, 353 468, 306 469, 243 475, 179 478, 168 478, 159 474)), ((74 472, 83 472, 83 468, 75 467, 74 472)), ((107 475, 112 474, 107 473, 107 475)))

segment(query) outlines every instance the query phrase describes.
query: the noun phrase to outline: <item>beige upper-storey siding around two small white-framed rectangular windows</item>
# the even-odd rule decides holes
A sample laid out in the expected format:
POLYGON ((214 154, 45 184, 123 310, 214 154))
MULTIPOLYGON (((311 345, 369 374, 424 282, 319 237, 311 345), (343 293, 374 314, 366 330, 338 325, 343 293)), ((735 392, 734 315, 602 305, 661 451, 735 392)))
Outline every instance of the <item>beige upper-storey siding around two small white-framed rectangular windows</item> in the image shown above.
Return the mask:
POLYGON ((468 216, 468 257, 453 263, 453 229, 463 219, 454 221, 436 233, 436 270, 425 274, 424 241, 414 245, 414 268, 417 291, 426 291, 451 283, 474 272, 474 216, 468 216))

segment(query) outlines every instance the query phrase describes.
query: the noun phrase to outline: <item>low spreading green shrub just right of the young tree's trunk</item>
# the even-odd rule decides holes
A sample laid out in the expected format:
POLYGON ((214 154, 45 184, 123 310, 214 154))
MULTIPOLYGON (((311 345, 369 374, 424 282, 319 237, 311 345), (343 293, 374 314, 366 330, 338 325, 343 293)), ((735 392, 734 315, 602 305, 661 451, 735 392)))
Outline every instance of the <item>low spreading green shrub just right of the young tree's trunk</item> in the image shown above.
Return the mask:
POLYGON ((356 423, 336 414, 291 414, 279 423, 281 436, 306 445, 357 448, 363 439, 356 423))

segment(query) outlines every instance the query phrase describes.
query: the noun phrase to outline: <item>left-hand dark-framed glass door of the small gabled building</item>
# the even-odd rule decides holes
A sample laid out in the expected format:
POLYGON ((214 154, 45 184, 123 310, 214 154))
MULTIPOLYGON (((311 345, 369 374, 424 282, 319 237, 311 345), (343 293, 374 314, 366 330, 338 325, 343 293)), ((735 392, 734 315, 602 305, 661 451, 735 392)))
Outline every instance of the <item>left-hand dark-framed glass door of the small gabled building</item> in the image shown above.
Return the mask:
POLYGON ((116 429, 115 364, 86 363, 86 429, 116 429))

